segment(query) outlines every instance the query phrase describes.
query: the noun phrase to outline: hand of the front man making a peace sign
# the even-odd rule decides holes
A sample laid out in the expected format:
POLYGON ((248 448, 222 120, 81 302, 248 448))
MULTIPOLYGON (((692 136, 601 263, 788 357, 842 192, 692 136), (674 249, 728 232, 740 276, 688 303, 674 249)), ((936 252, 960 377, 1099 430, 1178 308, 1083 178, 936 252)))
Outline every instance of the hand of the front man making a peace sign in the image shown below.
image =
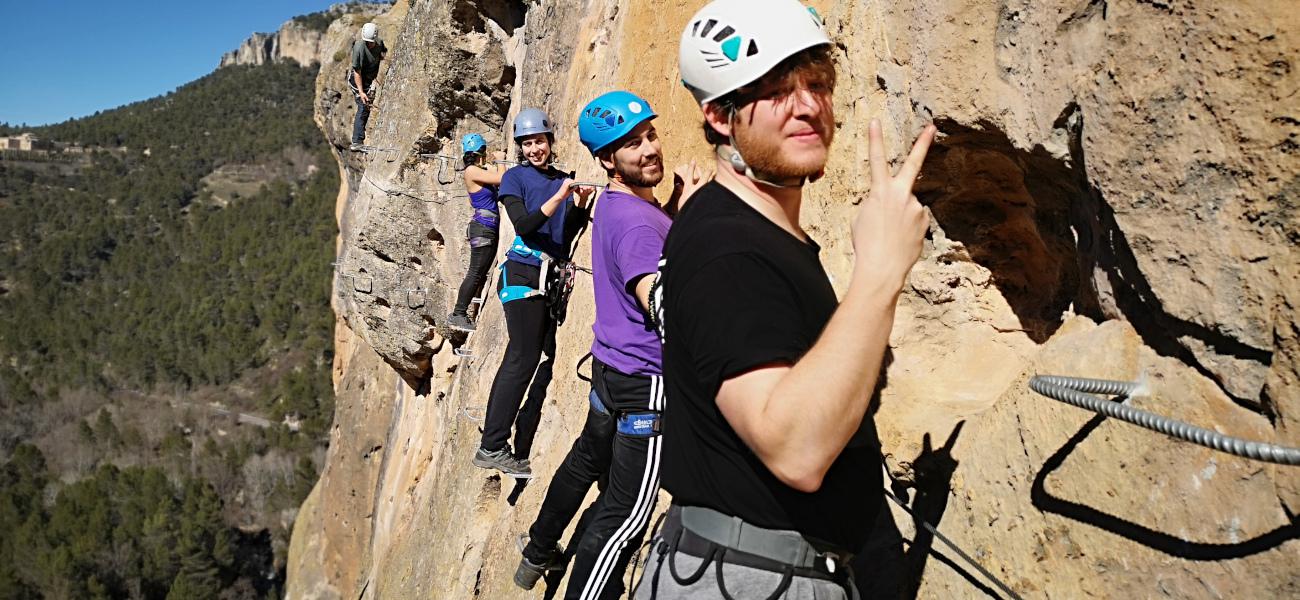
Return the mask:
POLYGON ((920 257, 930 216, 911 194, 911 187, 920 173, 920 165, 926 162, 926 153, 936 131, 933 125, 926 126, 898 173, 890 175, 880 122, 871 121, 871 192, 858 206, 858 214, 853 219, 855 274, 883 278, 884 283, 901 288, 920 257))

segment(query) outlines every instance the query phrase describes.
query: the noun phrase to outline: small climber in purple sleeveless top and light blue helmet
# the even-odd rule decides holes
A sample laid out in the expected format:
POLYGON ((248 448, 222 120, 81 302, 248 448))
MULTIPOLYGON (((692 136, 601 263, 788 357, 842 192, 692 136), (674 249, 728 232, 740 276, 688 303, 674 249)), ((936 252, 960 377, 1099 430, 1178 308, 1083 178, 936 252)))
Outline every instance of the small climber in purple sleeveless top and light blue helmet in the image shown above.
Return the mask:
MULTIPOLYGON (((493 162, 488 162, 488 140, 482 135, 469 134, 460 139, 460 151, 465 164, 465 192, 469 194, 469 206, 474 214, 465 230, 469 242, 469 270, 460 282, 456 305, 447 316, 447 325, 462 331, 473 331, 469 321, 469 301, 478 295, 491 260, 497 256, 497 232, 500 226, 500 210, 497 208, 497 186, 504 173, 506 152, 497 151, 493 162)), ((482 306, 478 306, 482 314, 482 306)))

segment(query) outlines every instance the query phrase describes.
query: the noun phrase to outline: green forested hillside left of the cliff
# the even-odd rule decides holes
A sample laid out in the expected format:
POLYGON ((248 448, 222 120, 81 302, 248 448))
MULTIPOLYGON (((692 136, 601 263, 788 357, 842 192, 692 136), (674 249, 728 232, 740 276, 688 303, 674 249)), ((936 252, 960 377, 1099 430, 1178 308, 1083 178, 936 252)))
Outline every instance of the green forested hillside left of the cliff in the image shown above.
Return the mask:
POLYGON ((222 68, 0 160, 0 599, 278 595, 333 413, 313 87, 222 68))

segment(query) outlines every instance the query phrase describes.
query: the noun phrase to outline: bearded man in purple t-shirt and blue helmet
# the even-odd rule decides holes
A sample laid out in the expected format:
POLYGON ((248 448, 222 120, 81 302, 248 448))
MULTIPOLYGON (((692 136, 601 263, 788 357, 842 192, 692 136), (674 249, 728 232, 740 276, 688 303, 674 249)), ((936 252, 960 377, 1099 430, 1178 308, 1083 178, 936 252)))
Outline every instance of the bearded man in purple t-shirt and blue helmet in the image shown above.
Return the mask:
MULTIPOLYGON (((546 490, 515 570, 532 590, 562 569, 559 538, 592 484, 607 483, 582 518, 566 599, 615 599, 623 571, 641 545, 659 494, 659 413, 663 410, 659 338, 650 325, 650 283, 668 214, 654 197, 664 177, 650 103, 625 91, 592 100, 578 116, 578 138, 610 178, 592 225, 595 340, 586 423, 546 490)), ((685 182, 673 196, 699 181, 685 182)), ((676 200, 676 197, 673 199, 676 200)))

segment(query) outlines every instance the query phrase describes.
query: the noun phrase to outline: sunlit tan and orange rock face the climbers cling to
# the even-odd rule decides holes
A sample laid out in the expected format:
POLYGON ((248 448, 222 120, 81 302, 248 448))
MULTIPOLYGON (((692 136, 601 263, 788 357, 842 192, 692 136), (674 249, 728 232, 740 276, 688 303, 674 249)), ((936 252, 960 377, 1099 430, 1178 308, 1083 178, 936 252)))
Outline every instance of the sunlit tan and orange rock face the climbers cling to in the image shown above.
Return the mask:
MULTIPOLYGON (((502 312, 489 300, 468 339, 443 329, 469 206, 458 161, 419 155, 454 157, 472 131, 503 147, 511 117, 543 106, 560 162, 599 179, 576 114, 621 87, 654 105, 670 164, 708 161, 676 82, 676 39, 702 4, 399 1, 377 18, 391 53, 369 153, 346 151, 347 65, 328 58, 361 22, 330 27, 317 122, 343 174, 338 409, 295 526, 291 597, 532 597, 511 583, 515 538, 585 413, 572 366, 592 339, 590 281, 560 329, 540 478, 525 488, 474 469, 472 417, 504 349, 502 312)), ((885 125, 893 156, 926 122, 942 134, 918 187, 933 227, 874 414, 894 490, 1024 597, 1300 595, 1295 468, 1026 387, 1037 373, 1145 378, 1138 406, 1300 445, 1300 13, 1270 1, 812 4, 837 43, 838 127, 802 218, 838 288, 853 261, 845 223, 867 192, 868 121, 885 125)), ((890 517, 858 569, 875 592, 1002 595, 911 516, 890 517)))

